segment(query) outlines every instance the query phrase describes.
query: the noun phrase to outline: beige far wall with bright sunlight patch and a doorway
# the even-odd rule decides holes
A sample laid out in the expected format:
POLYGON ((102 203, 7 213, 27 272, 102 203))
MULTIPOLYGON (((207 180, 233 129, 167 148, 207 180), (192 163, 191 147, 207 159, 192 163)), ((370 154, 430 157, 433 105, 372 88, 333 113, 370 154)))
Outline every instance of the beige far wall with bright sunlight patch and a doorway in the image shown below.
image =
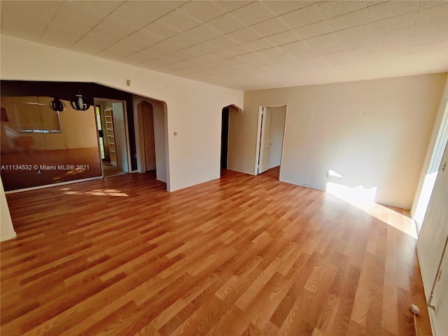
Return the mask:
POLYGON ((376 202, 409 209, 446 74, 244 93, 235 169, 253 174, 258 106, 288 104, 281 181, 325 190, 329 169, 376 202))

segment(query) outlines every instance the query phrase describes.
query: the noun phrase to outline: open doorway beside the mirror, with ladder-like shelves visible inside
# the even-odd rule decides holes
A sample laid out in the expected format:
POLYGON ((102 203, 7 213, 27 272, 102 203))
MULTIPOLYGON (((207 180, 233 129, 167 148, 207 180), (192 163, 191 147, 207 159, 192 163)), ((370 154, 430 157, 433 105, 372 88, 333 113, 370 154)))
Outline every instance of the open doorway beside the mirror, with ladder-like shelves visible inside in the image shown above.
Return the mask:
POLYGON ((126 104, 120 100, 94 98, 99 153, 104 177, 130 172, 126 104))

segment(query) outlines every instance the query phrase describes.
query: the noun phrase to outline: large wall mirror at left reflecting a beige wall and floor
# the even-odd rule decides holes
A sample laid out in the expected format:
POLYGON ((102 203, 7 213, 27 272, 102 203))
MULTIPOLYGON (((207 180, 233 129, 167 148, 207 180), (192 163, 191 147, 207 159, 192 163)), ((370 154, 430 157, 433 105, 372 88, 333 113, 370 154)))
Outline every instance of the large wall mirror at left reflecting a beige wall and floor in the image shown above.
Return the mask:
POLYGON ((93 107, 58 113, 50 109, 52 100, 1 97, 0 174, 6 191, 102 176, 93 107))

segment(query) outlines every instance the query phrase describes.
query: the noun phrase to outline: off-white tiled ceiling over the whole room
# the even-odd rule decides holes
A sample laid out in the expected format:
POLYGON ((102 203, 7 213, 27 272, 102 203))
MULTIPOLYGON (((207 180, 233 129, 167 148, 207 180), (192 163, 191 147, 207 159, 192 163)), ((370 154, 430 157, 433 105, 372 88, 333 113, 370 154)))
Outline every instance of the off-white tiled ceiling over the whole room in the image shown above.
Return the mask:
POLYGON ((448 71, 448 1, 1 1, 1 34, 238 90, 448 71))

